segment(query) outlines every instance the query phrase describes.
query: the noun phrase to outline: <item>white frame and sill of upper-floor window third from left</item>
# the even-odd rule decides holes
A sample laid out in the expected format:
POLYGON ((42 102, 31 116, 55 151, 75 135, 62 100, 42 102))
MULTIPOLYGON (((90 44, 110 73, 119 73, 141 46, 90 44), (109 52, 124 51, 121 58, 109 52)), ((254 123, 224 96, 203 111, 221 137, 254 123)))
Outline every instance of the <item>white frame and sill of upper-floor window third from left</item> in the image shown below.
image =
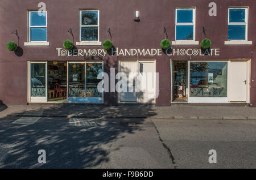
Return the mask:
POLYGON ((176 8, 175 9, 175 41, 172 41, 172 45, 199 45, 199 41, 196 40, 196 8, 176 8), (192 23, 177 23, 177 11, 178 10, 192 10, 193 22, 192 23), (176 40, 176 27, 177 25, 193 25, 193 40, 176 40))

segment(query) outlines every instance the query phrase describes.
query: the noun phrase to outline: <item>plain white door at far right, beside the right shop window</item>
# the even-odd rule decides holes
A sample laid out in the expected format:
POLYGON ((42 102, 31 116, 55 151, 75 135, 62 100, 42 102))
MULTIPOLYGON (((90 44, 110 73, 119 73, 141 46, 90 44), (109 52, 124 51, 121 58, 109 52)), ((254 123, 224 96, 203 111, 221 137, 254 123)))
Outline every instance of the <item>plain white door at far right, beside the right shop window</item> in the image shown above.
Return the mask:
POLYGON ((247 62, 230 63, 230 101, 246 101, 247 62))

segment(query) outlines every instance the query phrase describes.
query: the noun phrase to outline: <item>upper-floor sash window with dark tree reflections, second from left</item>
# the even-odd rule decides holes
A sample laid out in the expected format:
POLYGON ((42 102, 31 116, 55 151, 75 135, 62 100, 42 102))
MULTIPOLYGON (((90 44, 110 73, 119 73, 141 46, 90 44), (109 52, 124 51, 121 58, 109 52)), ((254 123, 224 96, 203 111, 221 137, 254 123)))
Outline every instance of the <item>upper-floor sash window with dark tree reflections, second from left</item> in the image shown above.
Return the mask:
POLYGON ((80 40, 99 41, 99 11, 82 10, 80 11, 80 40))

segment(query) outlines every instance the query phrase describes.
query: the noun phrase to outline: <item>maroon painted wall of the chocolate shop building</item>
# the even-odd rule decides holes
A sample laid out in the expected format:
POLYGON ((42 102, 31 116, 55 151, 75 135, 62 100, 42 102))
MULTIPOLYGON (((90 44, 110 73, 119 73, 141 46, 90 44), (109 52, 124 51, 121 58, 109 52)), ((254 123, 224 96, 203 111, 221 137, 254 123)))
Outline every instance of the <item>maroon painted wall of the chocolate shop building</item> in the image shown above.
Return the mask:
MULTIPOLYGON (((175 8, 196 7, 196 41, 201 41, 204 35, 202 27, 207 28, 208 38, 212 40, 212 48, 220 48, 220 56, 211 59, 251 59, 251 104, 256 105, 256 55, 255 55, 255 0, 215 0, 217 16, 209 16, 209 3, 212 0, 44 0, 48 11, 48 41, 50 46, 24 46, 27 42, 28 10, 37 10, 35 0, 1 0, 0 1, 0 100, 5 104, 26 104, 27 102, 27 61, 28 60, 82 60, 81 57, 58 57, 56 48, 62 48, 68 33, 72 28, 75 42, 79 41, 79 10, 100 10, 100 41, 109 38, 107 30, 112 32, 112 41, 119 49, 151 49, 160 48, 160 41, 164 38, 164 27, 167 29, 168 39, 175 40, 175 8), (249 6, 248 40, 253 45, 226 46, 228 39, 228 7, 249 6), (135 10, 139 10, 141 22, 134 22, 135 10), (17 56, 6 49, 9 41, 18 40, 11 35, 18 30, 19 46, 23 55, 17 56)), ((172 46, 173 48, 200 48, 199 45, 172 46)), ((102 49, 101 46, 77 46, 78 49, 102 49)), ((118 59, 137 57, 104 57, 104 70, 110 67, 117 70, 118 59)), ((139 57, 141 59, 156 59, 156 72, 159 72, 159 97, 156 105, 170 105, 171 76, 170 58, 172 59, 204 59, 205 57, 139 57)), ((105 93, 104 104, 117 104, 116 93, 105 93)))

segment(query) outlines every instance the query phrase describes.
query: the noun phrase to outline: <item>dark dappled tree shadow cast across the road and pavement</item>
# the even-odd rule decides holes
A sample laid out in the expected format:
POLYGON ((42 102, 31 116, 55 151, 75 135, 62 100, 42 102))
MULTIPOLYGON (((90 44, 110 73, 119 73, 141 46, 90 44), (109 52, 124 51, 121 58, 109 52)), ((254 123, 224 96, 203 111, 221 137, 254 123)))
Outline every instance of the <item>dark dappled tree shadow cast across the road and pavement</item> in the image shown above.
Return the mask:
MULTIPOLYGON (((143 107, 106 107, 99 105, 57 105, 34 110, 23 114, 63 115, 63 117, 41 118, 32 125, 12 123, 19 117, 0 118, 0 168, 97 168, 110 160, 109 149, 114 140, 123 139, 127 134, 143 131, 140 126, 144 118, 129 119, 96 119, 90 118, 97 126, 83 126, 64 115, 76 114, 139 115, 151 117, 155 115, 151 106, 143 107), (46 151, 46 164, 38 163, 38 151, 46 151)), ((17 114, 13 114, 17 115, 17 114)), ((114 147, 118 151, 122 147, 114 147)))

